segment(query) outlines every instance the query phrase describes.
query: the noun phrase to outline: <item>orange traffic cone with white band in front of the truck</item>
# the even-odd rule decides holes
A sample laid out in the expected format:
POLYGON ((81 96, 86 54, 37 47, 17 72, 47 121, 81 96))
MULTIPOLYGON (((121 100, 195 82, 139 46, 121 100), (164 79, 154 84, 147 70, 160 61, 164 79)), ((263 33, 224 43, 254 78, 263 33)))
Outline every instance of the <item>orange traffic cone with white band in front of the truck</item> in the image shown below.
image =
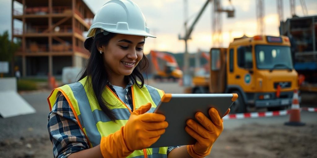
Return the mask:
POLYGON ((299 108, 299 101, 298 101, 298 90, 294 90, 293 94, 293 102, 291 106, 291 110, 289 112, 289 122, 285 122, 285 125, 292 125, 292 126, 303 126, 305 123, 301 122, 301 112, 299 108))

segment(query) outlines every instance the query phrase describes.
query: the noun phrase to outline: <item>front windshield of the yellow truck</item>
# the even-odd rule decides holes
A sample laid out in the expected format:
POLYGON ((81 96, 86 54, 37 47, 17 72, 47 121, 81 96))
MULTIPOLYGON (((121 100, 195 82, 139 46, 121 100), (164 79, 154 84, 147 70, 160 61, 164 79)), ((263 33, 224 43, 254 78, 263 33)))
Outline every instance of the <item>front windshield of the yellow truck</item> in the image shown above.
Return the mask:
POLYGON ((293 69, 289 46, 256 45, 255 51, 258 69, 293 69))

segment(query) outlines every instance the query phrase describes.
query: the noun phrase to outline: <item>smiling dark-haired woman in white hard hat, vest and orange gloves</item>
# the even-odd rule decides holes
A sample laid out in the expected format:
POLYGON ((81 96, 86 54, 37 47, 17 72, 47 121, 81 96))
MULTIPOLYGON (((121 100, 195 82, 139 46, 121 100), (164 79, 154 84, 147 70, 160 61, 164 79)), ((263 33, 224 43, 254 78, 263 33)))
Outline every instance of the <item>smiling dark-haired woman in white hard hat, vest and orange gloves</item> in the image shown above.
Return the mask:
MULTIPOLYGON (((204 157, 223 130, 217 110, 212 121, 197 112, 185 130, 194 145, 148 148, 165 132, 165 116, 152 113, 164 92, 144 85, 143 54, 149 33, 139 7, 111 0, 96 13, 84 45, 91 53, 78 82, 49 96, 49 134, 55 157, 204 157), (143 105, 143 106, 142 106, 143 105)), ((227 111, 229 113, 229 111, 227 111)))

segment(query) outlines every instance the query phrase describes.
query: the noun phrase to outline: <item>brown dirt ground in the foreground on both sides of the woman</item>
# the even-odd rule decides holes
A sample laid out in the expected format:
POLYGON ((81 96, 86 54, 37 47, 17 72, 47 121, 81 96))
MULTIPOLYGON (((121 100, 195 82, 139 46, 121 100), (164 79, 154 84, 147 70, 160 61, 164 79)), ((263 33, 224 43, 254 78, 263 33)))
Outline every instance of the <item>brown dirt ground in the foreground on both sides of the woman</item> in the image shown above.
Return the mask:
MULTIPOLYGON (((224 129, 207 157, 315 158, 317 125, 243 125, 224 129)), ((0 158, 53 157, 48 136, 16 138, 0 142, 0 158)))

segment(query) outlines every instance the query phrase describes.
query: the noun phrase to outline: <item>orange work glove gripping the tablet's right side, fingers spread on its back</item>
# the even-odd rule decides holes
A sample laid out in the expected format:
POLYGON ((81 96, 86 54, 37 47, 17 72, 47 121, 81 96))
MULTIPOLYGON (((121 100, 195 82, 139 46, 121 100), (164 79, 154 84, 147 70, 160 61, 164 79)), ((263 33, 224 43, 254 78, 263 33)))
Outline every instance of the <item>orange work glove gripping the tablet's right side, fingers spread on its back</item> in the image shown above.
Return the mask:
MULTIPOLYGON (((230 109, 224 115, 227 115, 230 109)), ((202 112, 197 112, 195 118, 201 124, 189 119, 187 120, 185 131, 195 138, 197 142, 194 145, 187 145, 188 154, 194 158, 202 158, 210 154, 212 144, 220 136, 223 131, 223 120, 215 108, 209 109, 210 119, 202 112)))

